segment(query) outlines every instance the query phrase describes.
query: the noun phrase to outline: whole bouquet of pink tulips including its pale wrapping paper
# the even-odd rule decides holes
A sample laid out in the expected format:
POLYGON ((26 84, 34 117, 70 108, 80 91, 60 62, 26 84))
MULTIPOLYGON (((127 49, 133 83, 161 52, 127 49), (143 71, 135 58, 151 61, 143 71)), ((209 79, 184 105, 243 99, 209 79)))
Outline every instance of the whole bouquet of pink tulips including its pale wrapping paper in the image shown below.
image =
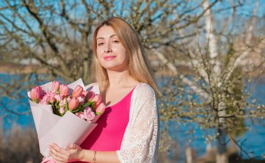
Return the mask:
POLYGON ((72 84, 51 81, 28 92, 38 134, 40 153, 50 157, 48 146, 57 143, 80 145, 96 127, 105 111, 97 85, 84 87, 82 79, 72 84))

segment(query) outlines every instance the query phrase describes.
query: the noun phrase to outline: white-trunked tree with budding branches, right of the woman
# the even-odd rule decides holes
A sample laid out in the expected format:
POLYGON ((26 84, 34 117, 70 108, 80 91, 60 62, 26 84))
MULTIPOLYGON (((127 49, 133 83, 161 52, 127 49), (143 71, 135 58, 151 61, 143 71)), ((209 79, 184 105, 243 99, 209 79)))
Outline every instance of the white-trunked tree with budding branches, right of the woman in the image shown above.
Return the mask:
MULTIPOLYGON (((206 10, 209 6, 209 1, 204 1, 202 8, 206 10)), ((232 6, 241 6, 241 3, 235 3, 232 6)), ((166 63, 175 75, 179 75, 176 80, 173 79, 172 83, 168 84, 169 88, 165 88, 166 99, 163 99, 164 102, 162 102, 161 107, 164 108, 162 115, 165 118, 168 116, 181 118, 183 122, 196 121, 202 128, 215 128, 217 132, 211 137, 212 139, 217 138, 217 162, 228 162, 225 154, 226 134, 229 134, 231 141, 234 141, 236 133, 245 130, 243 120, 246 117, 262 118, 264 116, 264 107, 255 107, 255 104, 252 105, 248 102, 250 93, 244 93, 245 84, 243 84, 243 80, 248 78, 248 74, 257 71, 257 68, 263 70, 264 56, 262 53, 257 53, 261 52, 257 49, 263 48, 265 36, 254 36, 257 7, 258 1, 250 14, 252 16, 248 26, 243 29, 245 31, 240 33, 244 39, 236 33, 227 31, 227 26, 237 23, 236 8, 231 8, 232 13, 226 22, 216 22, 215 15, 218 10, 214 11, 211 8, 206 10, 202 22, 205 33, 202 31, 197 37, 198 40, 195 41, 197 46, 194 42, 192 43, 191 39, 184 39, 181 44, 172 43, 171 48, 165 47, 173 54, 180 51, 180 54, 187 56, 186 59, 179 62, 179 65, 184 65, 190 70, 192 76, 190 79, 183 77, 178 72, 178 64, 167 60, 165 54, 158 54, 163 56, 163 63, 166 63), (200 40, 201 38, 204 40, 200 40), (191 43, 186 43, 188 41, 191 43), (182 47, 179 48, 179 46, 182 47), (240 46, 243 48, 239 49, 240 46), (250 55, 259 56, 259 62, 254 64, 250 55), (189 86, 188 89, 185 88, 185 84, 189 86), (190 95, 185 97, 186 93, 190 95), (174 98, 175 96, 178 97, 178 101, 174 98), (200 97, 201 100, 197 100, 197 97, 200 97), (172 104, 170 102, 172 100, 176 103, 172 104)), ((179 32, 185 33, 182 30, 179 32)), ((175 56, 181 57, 177 54, 175 56)), ((176 61, 176 58, 173 61, 176 61)), ((245 154, 248 155, 248 153, 245 154)))

